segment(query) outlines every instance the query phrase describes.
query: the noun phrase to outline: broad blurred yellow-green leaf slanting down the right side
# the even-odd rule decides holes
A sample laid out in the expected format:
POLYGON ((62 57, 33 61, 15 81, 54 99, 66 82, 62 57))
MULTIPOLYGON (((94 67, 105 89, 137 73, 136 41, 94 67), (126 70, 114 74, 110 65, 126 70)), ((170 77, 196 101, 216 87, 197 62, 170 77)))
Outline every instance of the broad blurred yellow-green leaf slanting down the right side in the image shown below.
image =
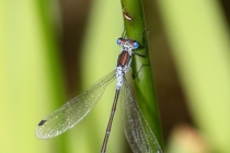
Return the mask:
POLYGON ((158 1, 188 109, 210 152, 230 152, 230 37, 220 1, 158 1))

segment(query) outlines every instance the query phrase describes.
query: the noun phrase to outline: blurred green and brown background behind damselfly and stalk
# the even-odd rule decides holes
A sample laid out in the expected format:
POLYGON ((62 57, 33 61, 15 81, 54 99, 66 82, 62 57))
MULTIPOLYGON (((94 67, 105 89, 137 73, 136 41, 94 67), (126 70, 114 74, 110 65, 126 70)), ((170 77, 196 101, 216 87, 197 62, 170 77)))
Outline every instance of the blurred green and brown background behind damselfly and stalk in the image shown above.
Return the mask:
MULTIPOLYGON (((142 2, 164 151, 229 153, 229 1, 142 2)), ((35 128, 115 69, 123 30, 119 1, 0 1, 0 153, 100 152, 115 83, 67 133, 35 128)), ((117 108, 107 153, 128 152, 117 108)))

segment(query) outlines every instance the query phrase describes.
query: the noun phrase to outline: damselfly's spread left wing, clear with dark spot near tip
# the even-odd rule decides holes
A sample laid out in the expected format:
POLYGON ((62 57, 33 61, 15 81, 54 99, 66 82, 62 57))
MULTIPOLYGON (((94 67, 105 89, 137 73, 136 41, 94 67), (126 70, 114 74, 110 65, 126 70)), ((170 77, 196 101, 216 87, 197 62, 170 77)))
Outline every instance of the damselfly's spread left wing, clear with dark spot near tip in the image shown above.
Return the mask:
POLYGON ((50 139, 74 127, 95 106, 106 85, 115 78, 114 70, 99 80, 88 91, 67 102, 43 119, 36 128, 36 137, 38 139, 50 139))

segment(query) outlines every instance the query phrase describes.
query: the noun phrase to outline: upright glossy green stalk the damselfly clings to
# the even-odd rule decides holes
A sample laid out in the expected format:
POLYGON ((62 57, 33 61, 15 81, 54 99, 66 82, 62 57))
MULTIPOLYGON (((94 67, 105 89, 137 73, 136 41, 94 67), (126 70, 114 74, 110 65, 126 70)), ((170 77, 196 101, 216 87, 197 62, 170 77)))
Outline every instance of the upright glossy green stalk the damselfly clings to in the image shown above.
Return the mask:
POLYGON ((134 79, 136 97, 143 116, 150 125, 159 144, 162 146, 163 140, 152 80, 141 0, 122 0, 122 9, 127 37, 139 42, 142 48, 137 51, 145 54, 145 57, 135 55, 133 57, 131 69, 133 74, 136 75, 134 79))

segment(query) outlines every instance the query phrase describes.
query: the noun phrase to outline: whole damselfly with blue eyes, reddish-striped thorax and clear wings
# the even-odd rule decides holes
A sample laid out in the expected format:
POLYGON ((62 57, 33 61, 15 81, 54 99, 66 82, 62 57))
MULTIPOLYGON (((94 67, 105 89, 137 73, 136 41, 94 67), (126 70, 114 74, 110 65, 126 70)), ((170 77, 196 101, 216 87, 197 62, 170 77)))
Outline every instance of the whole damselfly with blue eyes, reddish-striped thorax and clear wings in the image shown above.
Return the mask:
POLYGON ((118 57, 116 70, 103 76, 88 91, 67 102, 59 109, 55 110, 43 119, 36 128, 36 137, 38 139, 50 139, 74 127, 95 106, 104 93, 105 87, 113 80, 117 79, 114 103, 101 153, 105 153, 106 151, 119 93, 122 102, 123 127, 133 152, 162 152, 154 134, 151 131, 151 128, 138 107, 138 104, 125 78, 126 72, 130 68, 131 55, 136 54, 135 49, 138 49, 140 45, 136 40, 124 37, 118 38, 117 44, 122 46, 122 54, 118 57))

